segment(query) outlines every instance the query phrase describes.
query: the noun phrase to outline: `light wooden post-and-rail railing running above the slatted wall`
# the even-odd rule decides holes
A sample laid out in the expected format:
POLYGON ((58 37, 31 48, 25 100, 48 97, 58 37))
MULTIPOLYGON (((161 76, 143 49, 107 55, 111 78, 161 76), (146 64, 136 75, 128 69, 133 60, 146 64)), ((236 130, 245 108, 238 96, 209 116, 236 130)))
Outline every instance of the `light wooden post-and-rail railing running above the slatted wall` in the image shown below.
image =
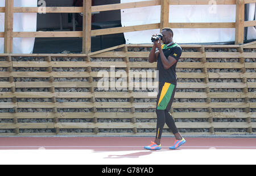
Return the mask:
POLYGON ((236 23, 169 23, 169 5, 209 5, 209 0, 155 0, 113 5, 92 6, 91 1, 84 0, 84 7, 14 7, 14 0, 6 0, 5 7, 0 7, 0 12, 5 12, 5 32, 0 32, 0 37, 5 37, 4 53, 13 52, 13 37, 82 37, 82 53, 91 52, 91 36, 108 35, 114 33, 143 31, 146 29, 171 28, 236 28, 236 44, 243 44, 243 31, 245 27, 255 26, 256 20, 245 22, 244 12, 246 3, 255 3, 256 0, 216 0, 216 5, 236 5, 236 23), (148 6, 161 6, 160 22, 155 24, 134 25, 109 29, 91 30, 92 12, 119 10, 148 6), (83 13, 82 31, 72 32, 13 32, 14 13, 83 13))

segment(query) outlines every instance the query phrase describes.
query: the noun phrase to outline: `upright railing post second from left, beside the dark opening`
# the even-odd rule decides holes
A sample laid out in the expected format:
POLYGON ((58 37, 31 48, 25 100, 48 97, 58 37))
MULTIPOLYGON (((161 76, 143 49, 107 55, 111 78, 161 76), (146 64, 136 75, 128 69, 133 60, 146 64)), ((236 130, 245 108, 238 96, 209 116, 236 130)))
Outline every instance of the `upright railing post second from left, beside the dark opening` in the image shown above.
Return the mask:
POLYGON ((82 53, 88 54, 91 51, 92 1, 84 0, 83 2, 82 53))

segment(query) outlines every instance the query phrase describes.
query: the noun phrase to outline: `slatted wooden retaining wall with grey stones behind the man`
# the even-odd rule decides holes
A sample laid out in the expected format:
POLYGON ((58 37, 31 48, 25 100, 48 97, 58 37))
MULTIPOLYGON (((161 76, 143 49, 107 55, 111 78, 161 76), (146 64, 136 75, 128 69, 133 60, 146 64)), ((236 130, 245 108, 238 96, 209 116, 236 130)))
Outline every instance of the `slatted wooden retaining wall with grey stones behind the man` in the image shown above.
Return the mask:
MULTIPOLYGON (((0 135, 155 135, 156 96, 149 96, 148 90, 102 91, 98 84, 100 71, 111 76, 113 66, 115 79, 121 76, 117 70, 137 70, 141 78, 150 78, 143 76, 143 69, 156 67, 147 62, 151 47, 120 45, 89 54, 1 54, 0 135)), ((170 109, 181 134, 255 134, 256 42, 181 48, 170 109)), ((170 135, 166 128, 163 135, 170 135)))

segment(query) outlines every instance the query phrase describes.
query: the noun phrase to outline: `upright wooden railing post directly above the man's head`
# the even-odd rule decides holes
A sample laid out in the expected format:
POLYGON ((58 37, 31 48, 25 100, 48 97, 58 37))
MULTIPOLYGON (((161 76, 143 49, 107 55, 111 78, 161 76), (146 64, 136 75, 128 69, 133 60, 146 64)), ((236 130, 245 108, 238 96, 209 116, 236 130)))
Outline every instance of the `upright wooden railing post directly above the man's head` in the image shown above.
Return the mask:
POLYGON ((160 30, 169 26, 169 0, 161 0, 160 30))

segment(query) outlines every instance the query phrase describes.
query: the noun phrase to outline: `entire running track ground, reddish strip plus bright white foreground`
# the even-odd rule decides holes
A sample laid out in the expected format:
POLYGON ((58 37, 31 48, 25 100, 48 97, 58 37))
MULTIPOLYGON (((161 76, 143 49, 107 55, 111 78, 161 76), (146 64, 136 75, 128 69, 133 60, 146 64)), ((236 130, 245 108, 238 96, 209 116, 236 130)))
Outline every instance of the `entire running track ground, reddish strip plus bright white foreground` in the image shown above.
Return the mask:
POLYGON ((154 137, 0 137, 1 164, 256 164, 256 138, 191 138, 170 150, 143 148, 154 137), (153 161, 153 162, 152 162, 153 161), (157 161, 157 162, 155 162, 157 161))

